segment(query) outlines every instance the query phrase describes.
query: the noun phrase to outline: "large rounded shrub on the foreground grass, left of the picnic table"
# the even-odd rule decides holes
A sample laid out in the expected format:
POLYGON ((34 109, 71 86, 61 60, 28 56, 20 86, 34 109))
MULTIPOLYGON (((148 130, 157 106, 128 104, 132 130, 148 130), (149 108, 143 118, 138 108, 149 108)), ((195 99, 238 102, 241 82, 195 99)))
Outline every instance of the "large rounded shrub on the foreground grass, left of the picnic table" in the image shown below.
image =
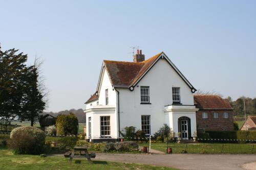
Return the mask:
POLYGON ((35 127, 18 127, 11 131, 8 146, 16 154, 40 154, 44 150, 45 132, 35 127))

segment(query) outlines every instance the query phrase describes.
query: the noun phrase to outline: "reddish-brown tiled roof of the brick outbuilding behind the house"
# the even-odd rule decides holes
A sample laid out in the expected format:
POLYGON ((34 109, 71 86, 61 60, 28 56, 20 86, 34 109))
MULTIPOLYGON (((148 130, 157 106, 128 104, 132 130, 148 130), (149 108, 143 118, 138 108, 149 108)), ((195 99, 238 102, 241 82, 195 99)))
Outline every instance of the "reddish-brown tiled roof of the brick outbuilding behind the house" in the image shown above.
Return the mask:
POLYGON ((230 104, 218 95, 194 95, 194 103, 199 109, 232 109, 230 104))

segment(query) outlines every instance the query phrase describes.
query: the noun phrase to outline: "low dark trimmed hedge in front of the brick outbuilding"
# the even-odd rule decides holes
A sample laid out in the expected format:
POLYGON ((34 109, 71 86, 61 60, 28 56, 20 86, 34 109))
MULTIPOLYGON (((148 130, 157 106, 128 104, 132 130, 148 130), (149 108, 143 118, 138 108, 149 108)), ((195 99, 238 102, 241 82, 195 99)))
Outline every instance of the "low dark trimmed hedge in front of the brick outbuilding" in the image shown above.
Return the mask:
POLYGON ((256 131, 206 131, 212 139, 256 140, 256 131))

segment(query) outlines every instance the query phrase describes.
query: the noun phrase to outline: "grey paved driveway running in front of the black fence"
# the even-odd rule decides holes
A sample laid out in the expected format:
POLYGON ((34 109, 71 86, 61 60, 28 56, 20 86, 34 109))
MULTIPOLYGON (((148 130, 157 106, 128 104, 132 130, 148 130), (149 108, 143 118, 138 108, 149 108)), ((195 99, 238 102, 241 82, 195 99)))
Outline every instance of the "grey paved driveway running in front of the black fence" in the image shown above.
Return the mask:
MULTIPOLYGON (((142 163, 178 169, 242 170, 245 163, 256 162, 256 155, 206 155, 206 154, 96 154, 94 160, 142 163)), ((256 170, 256 168, 255 168, 256 170)))

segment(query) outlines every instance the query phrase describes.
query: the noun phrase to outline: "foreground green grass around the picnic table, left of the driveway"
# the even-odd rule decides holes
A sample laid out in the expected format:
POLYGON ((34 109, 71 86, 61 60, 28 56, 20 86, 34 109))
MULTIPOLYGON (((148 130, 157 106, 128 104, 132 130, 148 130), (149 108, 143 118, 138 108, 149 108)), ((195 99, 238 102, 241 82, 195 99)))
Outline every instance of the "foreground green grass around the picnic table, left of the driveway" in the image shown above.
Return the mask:
MULTIPOLYGON (((0 149, 0 169, 154 169, 175 170, 174 168, 159 167, 135 163, 117 163, 93 160, 89 164, 86 159, 73 159, 68 163, 68 158, 51 156, 41 158, 35 155, 14 155, 10 150, 0 149)), ((96 154, 97 158, 97 154, 96 154)))

